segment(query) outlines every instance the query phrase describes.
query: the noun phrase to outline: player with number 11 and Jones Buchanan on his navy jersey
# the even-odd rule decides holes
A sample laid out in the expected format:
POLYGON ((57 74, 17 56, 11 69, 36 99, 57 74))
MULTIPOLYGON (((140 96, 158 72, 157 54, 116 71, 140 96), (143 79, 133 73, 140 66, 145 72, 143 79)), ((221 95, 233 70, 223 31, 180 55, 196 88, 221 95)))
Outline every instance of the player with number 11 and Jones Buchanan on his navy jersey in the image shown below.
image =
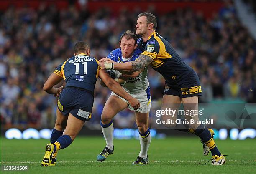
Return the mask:
POLYGON ((59 98, 51 143, 46 145, 41 166, 54 166, 59 149, 69 146, 82 129, 84 122, 92 117, 93 93, 98 77, 110 90, 125 98, 131 107, 135 110, 139 108, 139 101, 125 92, 98 63, 95 58, 90 57, 89 45, 78 42, 74 46, 74 57, 58 66, 45 82, 44 91, 59 98), (55 88, 54 85, 63 79, 66 81, 66 87, 63 90, 62 86, 55 88))

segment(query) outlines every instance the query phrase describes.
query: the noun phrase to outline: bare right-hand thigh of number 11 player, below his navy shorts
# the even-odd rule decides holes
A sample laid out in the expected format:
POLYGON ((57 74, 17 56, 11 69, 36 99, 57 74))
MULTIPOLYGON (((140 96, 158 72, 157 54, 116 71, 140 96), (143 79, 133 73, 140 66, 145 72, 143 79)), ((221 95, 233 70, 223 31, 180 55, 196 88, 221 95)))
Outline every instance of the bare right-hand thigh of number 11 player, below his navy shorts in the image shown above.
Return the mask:
POLYGON ((69 116, 67 119, 67 126, 63 135, 69 135, 73 141, 83 126, 84 126, 84 121, 78 119, 77 117, 69 113, 69 116))

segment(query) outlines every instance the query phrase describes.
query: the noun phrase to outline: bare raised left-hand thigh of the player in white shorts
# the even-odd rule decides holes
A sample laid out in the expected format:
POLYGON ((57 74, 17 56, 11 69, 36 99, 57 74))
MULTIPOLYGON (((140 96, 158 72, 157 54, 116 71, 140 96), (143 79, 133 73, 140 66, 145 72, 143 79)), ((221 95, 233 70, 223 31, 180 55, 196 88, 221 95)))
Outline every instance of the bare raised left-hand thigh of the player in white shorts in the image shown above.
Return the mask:
POLYGON ((118 96, 111 95, 103 108, 101 119, 112 119, 118 112, 127 108, 128 104, 118 96))

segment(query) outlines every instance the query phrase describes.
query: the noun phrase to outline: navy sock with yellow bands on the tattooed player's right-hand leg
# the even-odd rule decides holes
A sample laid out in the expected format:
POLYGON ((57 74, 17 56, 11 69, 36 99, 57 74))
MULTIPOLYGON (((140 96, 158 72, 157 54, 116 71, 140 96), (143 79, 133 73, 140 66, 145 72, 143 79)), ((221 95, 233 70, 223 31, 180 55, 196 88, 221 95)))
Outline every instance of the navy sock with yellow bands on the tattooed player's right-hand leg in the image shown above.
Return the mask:
POLYGON ((200 139, 209 147, 212 152, 212 156, 220 156, 220 151, 218 150, 210 131, 205 127, 205 125, 200 124, 195 130, 195 134, 200 137, 200 139))

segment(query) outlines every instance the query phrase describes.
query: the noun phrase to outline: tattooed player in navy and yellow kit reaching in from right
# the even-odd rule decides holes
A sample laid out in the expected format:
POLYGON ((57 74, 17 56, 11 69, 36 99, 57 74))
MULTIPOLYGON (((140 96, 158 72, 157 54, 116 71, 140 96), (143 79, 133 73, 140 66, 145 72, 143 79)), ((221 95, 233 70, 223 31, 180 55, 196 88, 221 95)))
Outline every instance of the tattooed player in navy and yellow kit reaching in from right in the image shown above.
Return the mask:
MULTIPOLYGON (((200 81, 195 71, 188 66, 172 46, 158 33, 156 33, 157 20, 151 13, 138 15, 136 34, 142 38, 138 40, 138 48, 143 53, 135 60, 125 63, 114 63, 104 58, 100 66, 106 69, 142 71, 149 64, 155 71, 158 71, 166 80, 164 96, 162 98, 162 110, 179 108, 183 103, 184 110, 198 110, 198 96, 202 95, 200 81)), ((198 121, 198 114, 195 116, 186 115, 187 120, 198 121)), ((176 116, 162 116, 162 120, 176 120, 176 116)), ((180 119, 181 121, 185 121, 180 119)), ((179 131, 187 131, 196 134, 203 143, 204 155, 209 151, 212 153, 212 165, 222 165, 225 157, 220 153, 213 140, 214 131, 207 129, 204 124, 193 123, 169 124, 167 126, 179 131)))

